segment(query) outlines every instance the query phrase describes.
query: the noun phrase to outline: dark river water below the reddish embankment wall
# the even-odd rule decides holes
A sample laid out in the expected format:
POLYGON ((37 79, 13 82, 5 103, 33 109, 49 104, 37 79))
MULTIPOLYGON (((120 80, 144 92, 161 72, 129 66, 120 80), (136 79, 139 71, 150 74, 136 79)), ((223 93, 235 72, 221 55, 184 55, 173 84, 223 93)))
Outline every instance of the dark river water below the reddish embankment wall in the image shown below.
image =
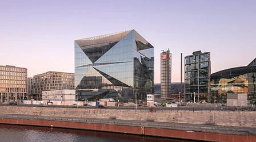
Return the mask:
POLYGON ((63 128, 32 127, 0 124, 0 141, 60 141, 60 142, 189 142, 187 140, 165 139, 160 137, 125 135, 120 133, 71 130, 63 128))

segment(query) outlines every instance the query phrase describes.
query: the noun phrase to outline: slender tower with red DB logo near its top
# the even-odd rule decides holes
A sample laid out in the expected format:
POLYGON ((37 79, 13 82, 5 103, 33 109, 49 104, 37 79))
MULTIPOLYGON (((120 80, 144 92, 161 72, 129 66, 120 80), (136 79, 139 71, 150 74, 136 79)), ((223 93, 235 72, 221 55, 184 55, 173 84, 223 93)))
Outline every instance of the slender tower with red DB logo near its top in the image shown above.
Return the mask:
POLYGON ((171 95, 171 53, 169 49, 161 53, 161 98, 171 95))

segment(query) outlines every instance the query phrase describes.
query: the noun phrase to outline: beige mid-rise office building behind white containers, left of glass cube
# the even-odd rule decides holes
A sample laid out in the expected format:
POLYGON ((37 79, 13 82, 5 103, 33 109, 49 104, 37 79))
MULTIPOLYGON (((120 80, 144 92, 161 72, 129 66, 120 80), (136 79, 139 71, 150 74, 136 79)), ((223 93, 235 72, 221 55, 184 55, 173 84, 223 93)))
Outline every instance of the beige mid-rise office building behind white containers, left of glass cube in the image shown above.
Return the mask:
POLYGON ((34 94, 31 99, 42 101, 42 91, 74 89, 74 76, 74 73, 53 71, 35 75, 33 77, 34 94))

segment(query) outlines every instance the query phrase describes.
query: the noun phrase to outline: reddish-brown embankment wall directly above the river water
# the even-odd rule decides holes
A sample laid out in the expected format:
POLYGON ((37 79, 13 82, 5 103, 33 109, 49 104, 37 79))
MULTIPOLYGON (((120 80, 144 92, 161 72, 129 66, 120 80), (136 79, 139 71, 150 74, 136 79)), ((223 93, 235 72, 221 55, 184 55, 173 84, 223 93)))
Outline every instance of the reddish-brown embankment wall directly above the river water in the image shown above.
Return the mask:
POLYGON ((164 128, 148 128, 134 126, 119 126, 114 124, 94 124, 82 122, 63 122, 58 120, 34 120, 34 119, 13 119, 2 118, 0 124, 17 124, 28 126, 45 126, 58 128, 73 128, 79 130, 107 131, 118 133, 130 133, 145 136, 172 137, 177 139, 204 140, 204 141, 255 141, 255 136, 229 135, 224 133, 209 133, 196 131, 180 131, 164 128))

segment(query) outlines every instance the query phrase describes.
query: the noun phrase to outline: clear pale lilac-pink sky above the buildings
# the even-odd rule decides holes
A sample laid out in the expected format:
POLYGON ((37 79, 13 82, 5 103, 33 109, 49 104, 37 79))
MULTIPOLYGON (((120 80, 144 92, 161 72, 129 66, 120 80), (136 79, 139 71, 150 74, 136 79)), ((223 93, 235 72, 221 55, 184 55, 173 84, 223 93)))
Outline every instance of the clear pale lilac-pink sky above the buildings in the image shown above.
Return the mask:
POLYGON ((155 47, 154 82, 168 48, 172 82, 179 82, 181 52, 210 52, 211 73, 255 59, 255 6, 254 0, 1 0, 0 65, 27 68, 28 77, 74 73, 74 40, 134 29, 155 47))

